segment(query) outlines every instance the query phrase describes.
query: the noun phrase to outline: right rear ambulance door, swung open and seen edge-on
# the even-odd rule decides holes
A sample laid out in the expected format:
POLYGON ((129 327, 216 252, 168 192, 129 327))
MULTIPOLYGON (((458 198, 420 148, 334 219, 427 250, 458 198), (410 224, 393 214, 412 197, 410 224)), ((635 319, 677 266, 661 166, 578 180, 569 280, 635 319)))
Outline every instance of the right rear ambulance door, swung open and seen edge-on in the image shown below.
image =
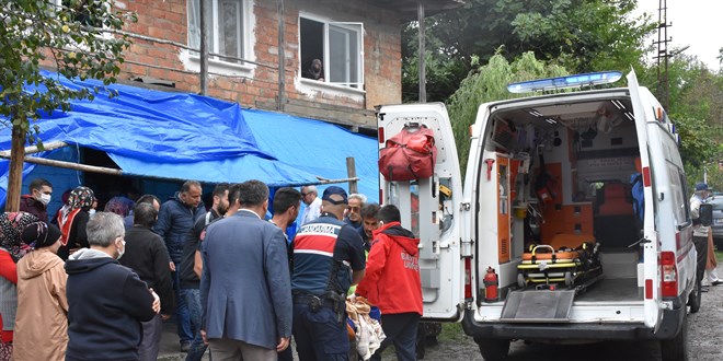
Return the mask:
POLYGON ((649 154, 649 140, 647 140, 647 120, 654 119, 654 109, 649 108, 645 102, 641 98, 641 90, 638 84, 635 71, 631 70, 628 74, 628 89, 630 91, 630 100, 633 106, 633 116, 635 119, 635 132, 638 133, 638 145, 640 148, 640 163, 643 175, 645 210, 643 216, 643 257, 644 261, 644 312, 645 312, 645 326, 657 327, 662 324, 663 312, 659 308, 661 302, 661 279, 658 273, 658 237, 655 230, 654 220, 654 198, 653 198, 653 180, 649 154))

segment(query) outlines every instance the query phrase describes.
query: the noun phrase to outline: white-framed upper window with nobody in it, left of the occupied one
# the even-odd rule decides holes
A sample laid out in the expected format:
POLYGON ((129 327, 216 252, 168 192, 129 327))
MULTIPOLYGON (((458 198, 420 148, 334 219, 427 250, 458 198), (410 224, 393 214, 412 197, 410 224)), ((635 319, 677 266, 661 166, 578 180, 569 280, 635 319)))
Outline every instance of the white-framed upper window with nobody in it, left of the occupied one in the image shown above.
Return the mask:
MULTIPOLYGON (((244 59, 245 11, 248 0, 210 0, 206 15, 208 51, 244 59)), ((188 0, 188 46, 200 49, 200 0, 188 0)), ((197 53, 195 53, 198 56, 197 53)), ((219 58, 243 63, 241 60, 219 58)))

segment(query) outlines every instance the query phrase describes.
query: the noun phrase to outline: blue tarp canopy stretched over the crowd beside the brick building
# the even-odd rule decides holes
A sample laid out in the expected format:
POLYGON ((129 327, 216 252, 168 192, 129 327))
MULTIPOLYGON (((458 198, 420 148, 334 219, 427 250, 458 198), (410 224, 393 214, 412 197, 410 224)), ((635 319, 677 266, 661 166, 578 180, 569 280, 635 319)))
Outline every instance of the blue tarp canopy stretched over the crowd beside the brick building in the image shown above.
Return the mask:
MULTIPOLYGON (((94 101, 71 101, 71 110, 37 121, 44 143, 64 141, 107 153, 123 174, 207 183, 260 179, 272 187, 317 184, 317 176, 346 178, 346 158, 356 161, 359 191, 377 193, 377 142, 342 127, 188 93, 97 81, 70 81, 70 89, 97 88, 94 101), (114 96, 111 96, 115 93, 114 96)), ((27 92, 42 92, 28 86, 27 92)), ((0 149, 11 148, 0 131, 0 149)), ((49 152, 33 154, 47 156, 49 152)), ((0 201, 9 161, 0 160, 0 201)), ((25 163, 24 174, 34 167, 25 163)))

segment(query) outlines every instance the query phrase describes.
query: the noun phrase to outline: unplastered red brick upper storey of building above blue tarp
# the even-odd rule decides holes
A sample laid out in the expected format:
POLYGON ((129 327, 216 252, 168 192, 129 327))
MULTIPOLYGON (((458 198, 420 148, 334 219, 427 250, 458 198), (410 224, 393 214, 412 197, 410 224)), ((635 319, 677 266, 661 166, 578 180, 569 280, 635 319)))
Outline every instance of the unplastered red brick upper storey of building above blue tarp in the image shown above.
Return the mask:
MULTIPOLYGON (((200 1, 117 0, 138 15, 120 79, 199 92, 200 1)), ((376 129, 376 105, 401 103, 401 30, 417 0, 204 1, 206 95, 355 130, 376 129)), ((420 1, 426 15, 461 2, 420 1)))

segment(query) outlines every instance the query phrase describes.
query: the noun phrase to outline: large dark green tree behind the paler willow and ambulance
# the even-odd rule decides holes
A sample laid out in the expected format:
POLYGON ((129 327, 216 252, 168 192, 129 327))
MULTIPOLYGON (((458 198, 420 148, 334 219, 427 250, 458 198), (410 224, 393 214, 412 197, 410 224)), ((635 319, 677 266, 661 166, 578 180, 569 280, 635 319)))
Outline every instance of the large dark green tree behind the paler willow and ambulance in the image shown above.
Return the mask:
MULTIPOLYGON (((632 18, 633 0, 468 0, 426 20, 427 94, 445 101, 474 68, 501 46, 507 59, 526 51, 571 72, 642 68, 650 16, 632 18)), ((403 98, 416 98, 417 24, 403 33, 403 98)))

